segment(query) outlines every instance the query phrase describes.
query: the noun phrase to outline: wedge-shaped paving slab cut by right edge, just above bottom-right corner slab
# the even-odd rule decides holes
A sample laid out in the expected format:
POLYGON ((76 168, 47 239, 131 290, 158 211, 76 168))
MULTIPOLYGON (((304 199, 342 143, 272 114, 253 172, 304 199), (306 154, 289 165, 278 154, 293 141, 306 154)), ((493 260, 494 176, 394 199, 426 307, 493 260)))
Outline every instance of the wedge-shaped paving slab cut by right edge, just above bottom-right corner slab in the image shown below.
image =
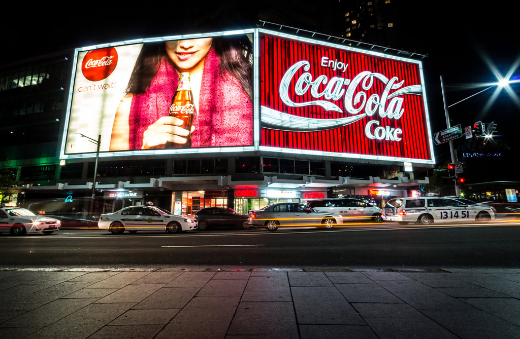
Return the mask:
POLYGON ((464 298, 464 302, 520 326, 520 300, 514 298, 464 298))

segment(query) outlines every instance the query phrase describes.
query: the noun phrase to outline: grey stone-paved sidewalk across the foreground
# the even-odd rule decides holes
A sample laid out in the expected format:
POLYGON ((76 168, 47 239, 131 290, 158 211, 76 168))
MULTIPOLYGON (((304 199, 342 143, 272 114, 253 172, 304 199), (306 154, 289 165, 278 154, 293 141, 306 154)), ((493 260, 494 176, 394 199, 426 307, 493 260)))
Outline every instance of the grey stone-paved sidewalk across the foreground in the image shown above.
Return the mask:
POLYGON ((519 269, 0 268, 3 338, 514 338, 519 269))

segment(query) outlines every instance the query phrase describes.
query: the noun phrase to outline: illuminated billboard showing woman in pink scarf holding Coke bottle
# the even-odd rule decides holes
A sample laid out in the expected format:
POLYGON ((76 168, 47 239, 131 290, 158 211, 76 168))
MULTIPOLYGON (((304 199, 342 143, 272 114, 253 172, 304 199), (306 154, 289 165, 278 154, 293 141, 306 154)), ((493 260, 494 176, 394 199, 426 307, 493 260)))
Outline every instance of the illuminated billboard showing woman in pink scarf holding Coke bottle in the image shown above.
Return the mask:
POLYGON ((76 49, 60 158, 98 135, 100 157, 254 150, 252 46, 242 30, 76 49))

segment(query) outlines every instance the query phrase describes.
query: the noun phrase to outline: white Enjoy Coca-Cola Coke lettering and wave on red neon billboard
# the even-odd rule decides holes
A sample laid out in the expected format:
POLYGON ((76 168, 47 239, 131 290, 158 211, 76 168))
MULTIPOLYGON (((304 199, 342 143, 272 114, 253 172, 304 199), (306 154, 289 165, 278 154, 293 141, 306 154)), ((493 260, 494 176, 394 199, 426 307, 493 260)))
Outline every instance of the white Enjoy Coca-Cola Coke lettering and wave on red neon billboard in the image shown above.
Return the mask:
MULTIPOLYGON (((348 64, 322 57, 320 66, 341 70, 343 75, 348 64)), ((404 80, 399 80, 395 76, 388 79, 381 73, 362 71, 352 79, 341 76, 329 78, 326 75, 313 77, 308 72, 309 69, 310 63, 305 60, 298 61, 289 67, 280 81, 280 100, 289 107, 319 106, 326 111, 347 113, 348 115, 343 118, 317 119, 262 107, 263 127, 306 132, 346 126, 362 118, 372 116, 374 118, 379 117, 379 119, 399 120, 405 112, 402 96, 409 94, 421 96, 423 94, 421 85, 402 87, 404 80), (300 75, 297 76, 297 74, 300 75), (379 84, 375 85, 376 83, 383 86, 383 91, 369 94, 373 87, 380 87, 379 84), (297 98, 304 98, 308 93, 313 98, 312 100, 296 100, 297 98), (343 101, 343 110, 333 102, 339 100, 343 101)), ((369 139, 402 140, 402 129, 380 126, 379 120, 370 120, 363 129, 369 139)))

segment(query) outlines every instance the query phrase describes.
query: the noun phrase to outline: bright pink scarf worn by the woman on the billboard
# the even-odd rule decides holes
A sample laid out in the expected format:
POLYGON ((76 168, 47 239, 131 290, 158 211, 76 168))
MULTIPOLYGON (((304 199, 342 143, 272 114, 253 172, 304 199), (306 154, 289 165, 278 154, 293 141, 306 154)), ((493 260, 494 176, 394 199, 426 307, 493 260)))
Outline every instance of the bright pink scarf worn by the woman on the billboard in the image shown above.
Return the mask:
MULTIPOLYGON (((202 73, 199 112, 194 113, 191 147, 253 144, 253 104, 235 77, 220 73, 219 62, 210 49, 202 73)), ((177 71, 163 58, 146 92, 134 95, 128 118, 131 150, 140 150, 148 126, 168 115, 178 82, 177 71)))

